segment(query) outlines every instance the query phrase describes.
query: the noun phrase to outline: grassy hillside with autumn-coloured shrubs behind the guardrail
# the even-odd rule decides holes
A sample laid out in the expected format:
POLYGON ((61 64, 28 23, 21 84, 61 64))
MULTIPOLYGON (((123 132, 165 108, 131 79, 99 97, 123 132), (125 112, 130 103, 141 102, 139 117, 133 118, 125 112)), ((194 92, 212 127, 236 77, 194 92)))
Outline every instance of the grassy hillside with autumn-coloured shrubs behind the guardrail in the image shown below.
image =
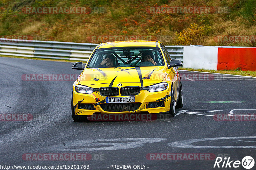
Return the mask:
POLYGON ((84 43, 146 39, 165 45, 256 46, 255 20, 255 0, 0 1, 1 38, 84 43), (39 11, 38 7, 58 7, 58 11, 42 14, 33 12, 32 7, 39 11), (65 7, 86 10, 61 12, 65 7), (199 8, 191 12, 189 7, 199 8))

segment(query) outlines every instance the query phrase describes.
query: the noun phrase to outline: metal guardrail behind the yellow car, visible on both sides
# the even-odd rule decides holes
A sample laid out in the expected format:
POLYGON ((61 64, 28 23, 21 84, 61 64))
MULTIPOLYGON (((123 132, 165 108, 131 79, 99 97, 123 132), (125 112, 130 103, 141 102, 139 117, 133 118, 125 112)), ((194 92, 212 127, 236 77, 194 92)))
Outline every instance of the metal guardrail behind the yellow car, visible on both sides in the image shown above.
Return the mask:
MULTIPOLYGON (((98 44, 0 38, 0 55, 87 61, 98 44)), ((166 46, 172 58, 183 61, 184 46, 166 46)))

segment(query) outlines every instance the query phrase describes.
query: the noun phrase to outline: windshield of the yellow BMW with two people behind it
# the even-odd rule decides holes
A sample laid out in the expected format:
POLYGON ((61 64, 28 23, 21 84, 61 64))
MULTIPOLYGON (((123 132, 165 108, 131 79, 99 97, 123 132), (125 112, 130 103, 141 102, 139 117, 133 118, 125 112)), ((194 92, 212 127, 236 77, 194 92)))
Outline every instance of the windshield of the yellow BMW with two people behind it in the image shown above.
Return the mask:
POLYGON ((158 47, 103 48, 91 57, 88 68, 164 66, 158 47))

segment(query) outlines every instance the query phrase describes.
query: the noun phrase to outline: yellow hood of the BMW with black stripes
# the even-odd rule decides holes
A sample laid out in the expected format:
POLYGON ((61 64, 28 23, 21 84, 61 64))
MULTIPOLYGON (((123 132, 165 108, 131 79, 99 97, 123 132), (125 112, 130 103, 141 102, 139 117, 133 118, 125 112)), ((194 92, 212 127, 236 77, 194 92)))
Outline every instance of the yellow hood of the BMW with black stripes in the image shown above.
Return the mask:
POLYGON ((78 77, 78 82, 93 88, 117 87, 119 83, 145 87, 162 82, 167 73, 165 66, 85 68, 78 77))

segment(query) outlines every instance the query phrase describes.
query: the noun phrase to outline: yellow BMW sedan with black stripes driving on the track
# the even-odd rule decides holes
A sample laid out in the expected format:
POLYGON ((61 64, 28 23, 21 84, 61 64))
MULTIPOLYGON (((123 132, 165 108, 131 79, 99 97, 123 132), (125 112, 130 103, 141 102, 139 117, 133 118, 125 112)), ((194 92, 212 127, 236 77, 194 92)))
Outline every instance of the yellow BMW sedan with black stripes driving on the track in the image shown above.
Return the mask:
POLYGON ((84 121, 100 114, 164 113, 182 108, 180 60, 171 59, 159 41, 101 43, 73 84, 72 118, 84 121))

